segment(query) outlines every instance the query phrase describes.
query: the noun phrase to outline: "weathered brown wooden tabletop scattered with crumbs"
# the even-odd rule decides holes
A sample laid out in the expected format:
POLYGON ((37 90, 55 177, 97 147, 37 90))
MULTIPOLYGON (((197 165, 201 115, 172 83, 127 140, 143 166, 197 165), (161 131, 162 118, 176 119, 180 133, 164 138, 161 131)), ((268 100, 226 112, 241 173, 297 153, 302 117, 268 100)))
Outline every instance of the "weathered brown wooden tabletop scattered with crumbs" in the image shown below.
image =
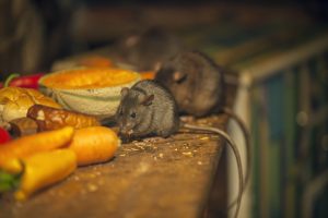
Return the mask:
MULTIPOLYGON (((223 126, 226 117, 197 120, 223 126)), ((1 218, 201 217, 222 138, 183 132, 122 144, 116 157, 79 168, 23 203, 0 198, 1 218)))

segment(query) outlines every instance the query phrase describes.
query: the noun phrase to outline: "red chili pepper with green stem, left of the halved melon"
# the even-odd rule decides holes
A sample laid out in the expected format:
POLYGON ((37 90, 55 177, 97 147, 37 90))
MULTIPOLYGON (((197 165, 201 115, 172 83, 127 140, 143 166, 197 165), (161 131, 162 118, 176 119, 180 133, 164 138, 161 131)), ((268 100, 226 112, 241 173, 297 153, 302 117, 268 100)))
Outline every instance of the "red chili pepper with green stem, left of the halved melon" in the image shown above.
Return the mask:
POLYGON ((36 73, 33 75, 23 75, 20 74, 11 74, 5 83, 4 87, 7 86, 14 86, 14 87, 23 87, 23 88, 38 88, 38 80, 43 76, 43 73, 36 73))

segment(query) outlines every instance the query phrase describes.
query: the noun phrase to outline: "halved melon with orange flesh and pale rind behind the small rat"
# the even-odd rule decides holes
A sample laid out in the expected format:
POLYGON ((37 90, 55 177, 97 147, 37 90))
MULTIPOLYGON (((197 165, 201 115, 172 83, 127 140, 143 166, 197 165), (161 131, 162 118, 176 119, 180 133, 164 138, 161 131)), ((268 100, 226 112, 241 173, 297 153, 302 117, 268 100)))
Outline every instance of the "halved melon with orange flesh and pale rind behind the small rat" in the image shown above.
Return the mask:
POLYGON ((121 69, 71 69, 39 80, 39 90, 65 109, 101 119, 115 114, 122 87, 141 80, 139 73, 121 69))

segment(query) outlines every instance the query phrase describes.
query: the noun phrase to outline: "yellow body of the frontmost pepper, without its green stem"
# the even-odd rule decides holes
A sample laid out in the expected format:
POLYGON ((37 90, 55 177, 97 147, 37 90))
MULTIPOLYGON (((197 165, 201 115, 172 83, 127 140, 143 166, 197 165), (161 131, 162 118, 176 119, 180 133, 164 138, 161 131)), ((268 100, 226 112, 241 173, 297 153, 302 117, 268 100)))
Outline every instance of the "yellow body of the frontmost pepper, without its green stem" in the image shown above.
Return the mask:
POLYGON ((68 148, 38 153, 20 161, 24 170, 19 190, 14 193, 19 201, 63 180, 77 169, 77 155, 68 148))

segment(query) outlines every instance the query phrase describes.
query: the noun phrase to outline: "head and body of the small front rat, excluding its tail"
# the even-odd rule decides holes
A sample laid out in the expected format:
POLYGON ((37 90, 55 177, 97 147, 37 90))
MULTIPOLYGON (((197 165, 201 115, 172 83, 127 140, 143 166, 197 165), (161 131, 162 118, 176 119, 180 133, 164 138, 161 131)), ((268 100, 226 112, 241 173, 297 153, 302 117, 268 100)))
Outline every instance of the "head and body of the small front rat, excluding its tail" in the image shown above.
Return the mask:
POLYGON ((121 89, 116 112, 119 132, 126 136, 167 137, 179 128, 174 98, 153 81, 141 81, 121 89))

